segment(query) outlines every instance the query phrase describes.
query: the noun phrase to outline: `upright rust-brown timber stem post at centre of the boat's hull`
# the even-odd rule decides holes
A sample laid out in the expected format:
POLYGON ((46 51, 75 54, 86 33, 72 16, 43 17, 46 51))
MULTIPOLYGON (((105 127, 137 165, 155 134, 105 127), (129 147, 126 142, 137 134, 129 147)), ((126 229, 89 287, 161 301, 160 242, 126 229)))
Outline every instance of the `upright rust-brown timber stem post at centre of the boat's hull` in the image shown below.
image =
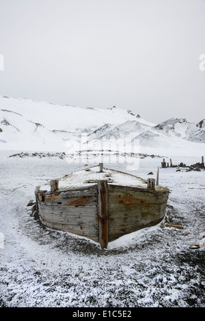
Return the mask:
POLYGON ((108 244, 108 192, 107 181, 98 181, 98 228, 101 248, 108 244))

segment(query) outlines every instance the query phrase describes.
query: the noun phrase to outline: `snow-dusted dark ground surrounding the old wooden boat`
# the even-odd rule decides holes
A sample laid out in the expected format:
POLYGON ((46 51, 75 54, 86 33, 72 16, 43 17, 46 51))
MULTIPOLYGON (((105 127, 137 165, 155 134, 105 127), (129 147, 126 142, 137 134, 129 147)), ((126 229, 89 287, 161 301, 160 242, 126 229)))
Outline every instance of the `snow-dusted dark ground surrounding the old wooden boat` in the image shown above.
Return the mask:
MULTIPOLYGON (((159 170, 160 185, 171 192, 167 218, 183 229, 159 224, 101 250, 85 237, 46 227, 27 207, 37 185, 85 164, 58 157, 8 157, 14 153, 0 152, 0 306, 205 307, 205 248, 189 248, 205 232, 204 170, 159 170)), ((131 173, 155 178, 161 161, 141 158, 131 173)), ((173 164, 200 161, 186 155, 172 158, 173 164)), ((127 171, 123 163, 106 166, 127 171)))

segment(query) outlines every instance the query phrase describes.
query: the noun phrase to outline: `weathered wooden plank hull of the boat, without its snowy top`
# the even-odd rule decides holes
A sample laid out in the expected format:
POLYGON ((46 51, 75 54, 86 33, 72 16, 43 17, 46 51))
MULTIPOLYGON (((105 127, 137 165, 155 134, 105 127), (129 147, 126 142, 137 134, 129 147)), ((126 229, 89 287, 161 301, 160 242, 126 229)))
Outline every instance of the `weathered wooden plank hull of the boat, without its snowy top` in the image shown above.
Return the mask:
POLYGON ((98 181, 72 190, 48 192, 36 188, 36 205, 42 221, 99 242, 108 242, 144 227, 159 224, 165 216, 168 188, 148 190, 98 181))

